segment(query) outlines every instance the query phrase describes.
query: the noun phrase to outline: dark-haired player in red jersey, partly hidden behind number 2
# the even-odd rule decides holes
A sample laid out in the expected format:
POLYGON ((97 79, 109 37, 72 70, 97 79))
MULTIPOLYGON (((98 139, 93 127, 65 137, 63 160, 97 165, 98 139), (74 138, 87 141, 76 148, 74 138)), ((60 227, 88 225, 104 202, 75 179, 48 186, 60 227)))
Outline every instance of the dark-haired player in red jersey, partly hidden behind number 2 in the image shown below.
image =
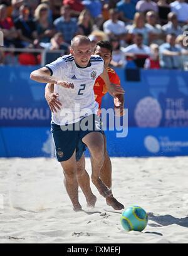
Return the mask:
MULTIPOLYGON (((118 77, 117 73, 112 68, 108 67, 110 61, 112 60, 112 45, 108 41, 98 41, 94 50, 94 55, 100 55, 103 58, 110 82, 120 85, 120 78, 118 77)), ((101 77, 98 77, 97 80, 95 80, 94 92, 95 100, 98 102, 100 108, 102 104, 102 97, 105 95, 105 93, 108 92, 107 86, 105 85, 105 82, 101 77)), ((52 112, 56 112, 58 109, 61 109, 61 103, 57 99, 58 95, 56 95, 56 93, 53 93, 53 85, 50 85, 49 83, 46 85, 45 88, 45 97, 52 112)), ((123 115, 123 95, 117 95, 117 99, 114 99, 114 101, 115 105, 118 104, 119 106, 115 106, 115 109, 118 108, 118 110, 120 110, 120 115, 123 115)), ((107 152, 107 140, 105 134, 103 134, 103 139, 105 141, 105 161, 100 171, 100 178, 109 189, 112 189, 112 164, 107 152)), ((86 197, 88 206, 93 207, 95 206, 97 198, 95 195, 93 195, 90 188, 90 178, 85 170, 84 155, 81 156, 81 159, 76 162, 76 166, 78 184, 80 185, 80 188, 82 189, 86 197)), ((109 205, 108 200, 109 198, 106 198, 107 204, 109 205)), ((115 210, 121 210, 123 208, 123 205, 121 203, 117 203, 113 205, 113 208, 115 210)))

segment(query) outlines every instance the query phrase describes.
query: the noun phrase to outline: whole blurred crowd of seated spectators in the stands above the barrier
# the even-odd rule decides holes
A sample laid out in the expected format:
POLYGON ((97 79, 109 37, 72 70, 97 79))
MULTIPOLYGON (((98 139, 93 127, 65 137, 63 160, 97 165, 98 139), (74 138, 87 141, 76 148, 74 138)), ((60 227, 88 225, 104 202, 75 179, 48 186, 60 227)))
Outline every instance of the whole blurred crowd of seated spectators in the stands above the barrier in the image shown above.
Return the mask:
POLYGON ((75 35, 113 46, 112 67, 188 67, 188 0, 0 0, 0 64, 38 65, 75 35), (2 38, 2 33, 0 33, 2 38), (18 51, 3 51, 18 48, 18 51), (20 48, 25 50, 21 52, 20 48))

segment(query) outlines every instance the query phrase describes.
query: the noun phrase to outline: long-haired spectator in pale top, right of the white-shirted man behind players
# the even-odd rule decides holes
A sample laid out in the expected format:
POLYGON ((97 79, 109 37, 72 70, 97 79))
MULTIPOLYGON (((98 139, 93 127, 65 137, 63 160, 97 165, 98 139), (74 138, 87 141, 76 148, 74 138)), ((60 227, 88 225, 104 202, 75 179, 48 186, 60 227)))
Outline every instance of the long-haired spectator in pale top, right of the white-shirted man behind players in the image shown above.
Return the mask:
POLYGON ((135 13, 133 25, 128 28, 128 41, 133 40, 135 34, 142 34, 144 45, 149 44, 149 29, 145 26, 145 17, 143 13, 135 13))

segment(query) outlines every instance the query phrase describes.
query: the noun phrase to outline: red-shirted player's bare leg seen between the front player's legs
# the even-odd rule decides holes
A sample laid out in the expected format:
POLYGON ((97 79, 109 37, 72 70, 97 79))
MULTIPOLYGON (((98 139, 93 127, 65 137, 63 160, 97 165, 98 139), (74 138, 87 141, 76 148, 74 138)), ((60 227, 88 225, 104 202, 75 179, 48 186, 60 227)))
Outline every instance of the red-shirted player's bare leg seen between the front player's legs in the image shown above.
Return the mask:
POLYGON ((85 195, 87 206, 95 207, 97 198, 93 195, 90 187, 90 176, 85 170, 85 156, 83 155, 81 159, 76 162, 76 176, 78 185, 80 186, 83 194, 85 195))

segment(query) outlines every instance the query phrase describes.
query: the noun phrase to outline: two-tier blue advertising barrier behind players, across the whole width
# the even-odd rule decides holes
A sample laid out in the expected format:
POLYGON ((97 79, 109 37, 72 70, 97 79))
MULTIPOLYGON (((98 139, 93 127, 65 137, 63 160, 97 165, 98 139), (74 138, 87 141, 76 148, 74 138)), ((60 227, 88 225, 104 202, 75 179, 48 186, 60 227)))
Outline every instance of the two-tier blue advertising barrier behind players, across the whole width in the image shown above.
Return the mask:
MULTIPOLYGON (((0 67, 1 157, 54 156, 44 85, 29 79, 36 68, 0 67)), ((116 71, 125 88, 128 135, 105 132, 110 156, 188 155, 188 72, 116 71)), ((113 107, 110 95, 102 107, 113 107)))

